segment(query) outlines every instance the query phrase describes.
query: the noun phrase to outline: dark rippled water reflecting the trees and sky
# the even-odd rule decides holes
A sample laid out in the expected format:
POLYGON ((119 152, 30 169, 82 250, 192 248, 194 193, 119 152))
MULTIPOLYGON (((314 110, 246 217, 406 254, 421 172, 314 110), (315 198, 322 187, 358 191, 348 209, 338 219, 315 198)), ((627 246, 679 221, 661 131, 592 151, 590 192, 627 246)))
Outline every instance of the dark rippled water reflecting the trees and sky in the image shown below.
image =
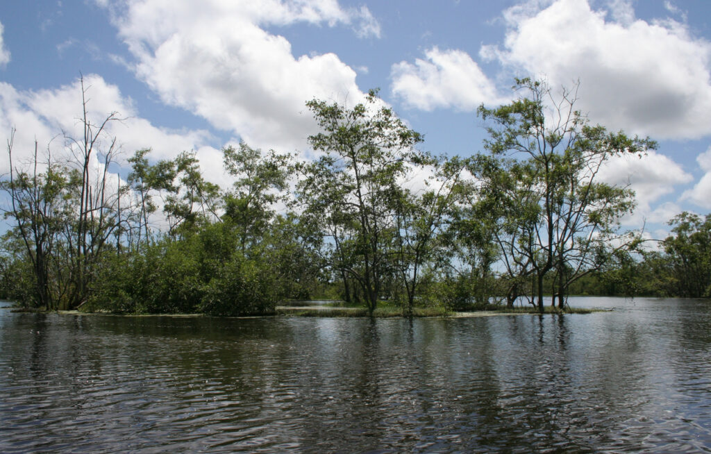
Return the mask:
POLYGON ((0 452, 711 452, 711 303, 590 315, 0 310, 0 452))

